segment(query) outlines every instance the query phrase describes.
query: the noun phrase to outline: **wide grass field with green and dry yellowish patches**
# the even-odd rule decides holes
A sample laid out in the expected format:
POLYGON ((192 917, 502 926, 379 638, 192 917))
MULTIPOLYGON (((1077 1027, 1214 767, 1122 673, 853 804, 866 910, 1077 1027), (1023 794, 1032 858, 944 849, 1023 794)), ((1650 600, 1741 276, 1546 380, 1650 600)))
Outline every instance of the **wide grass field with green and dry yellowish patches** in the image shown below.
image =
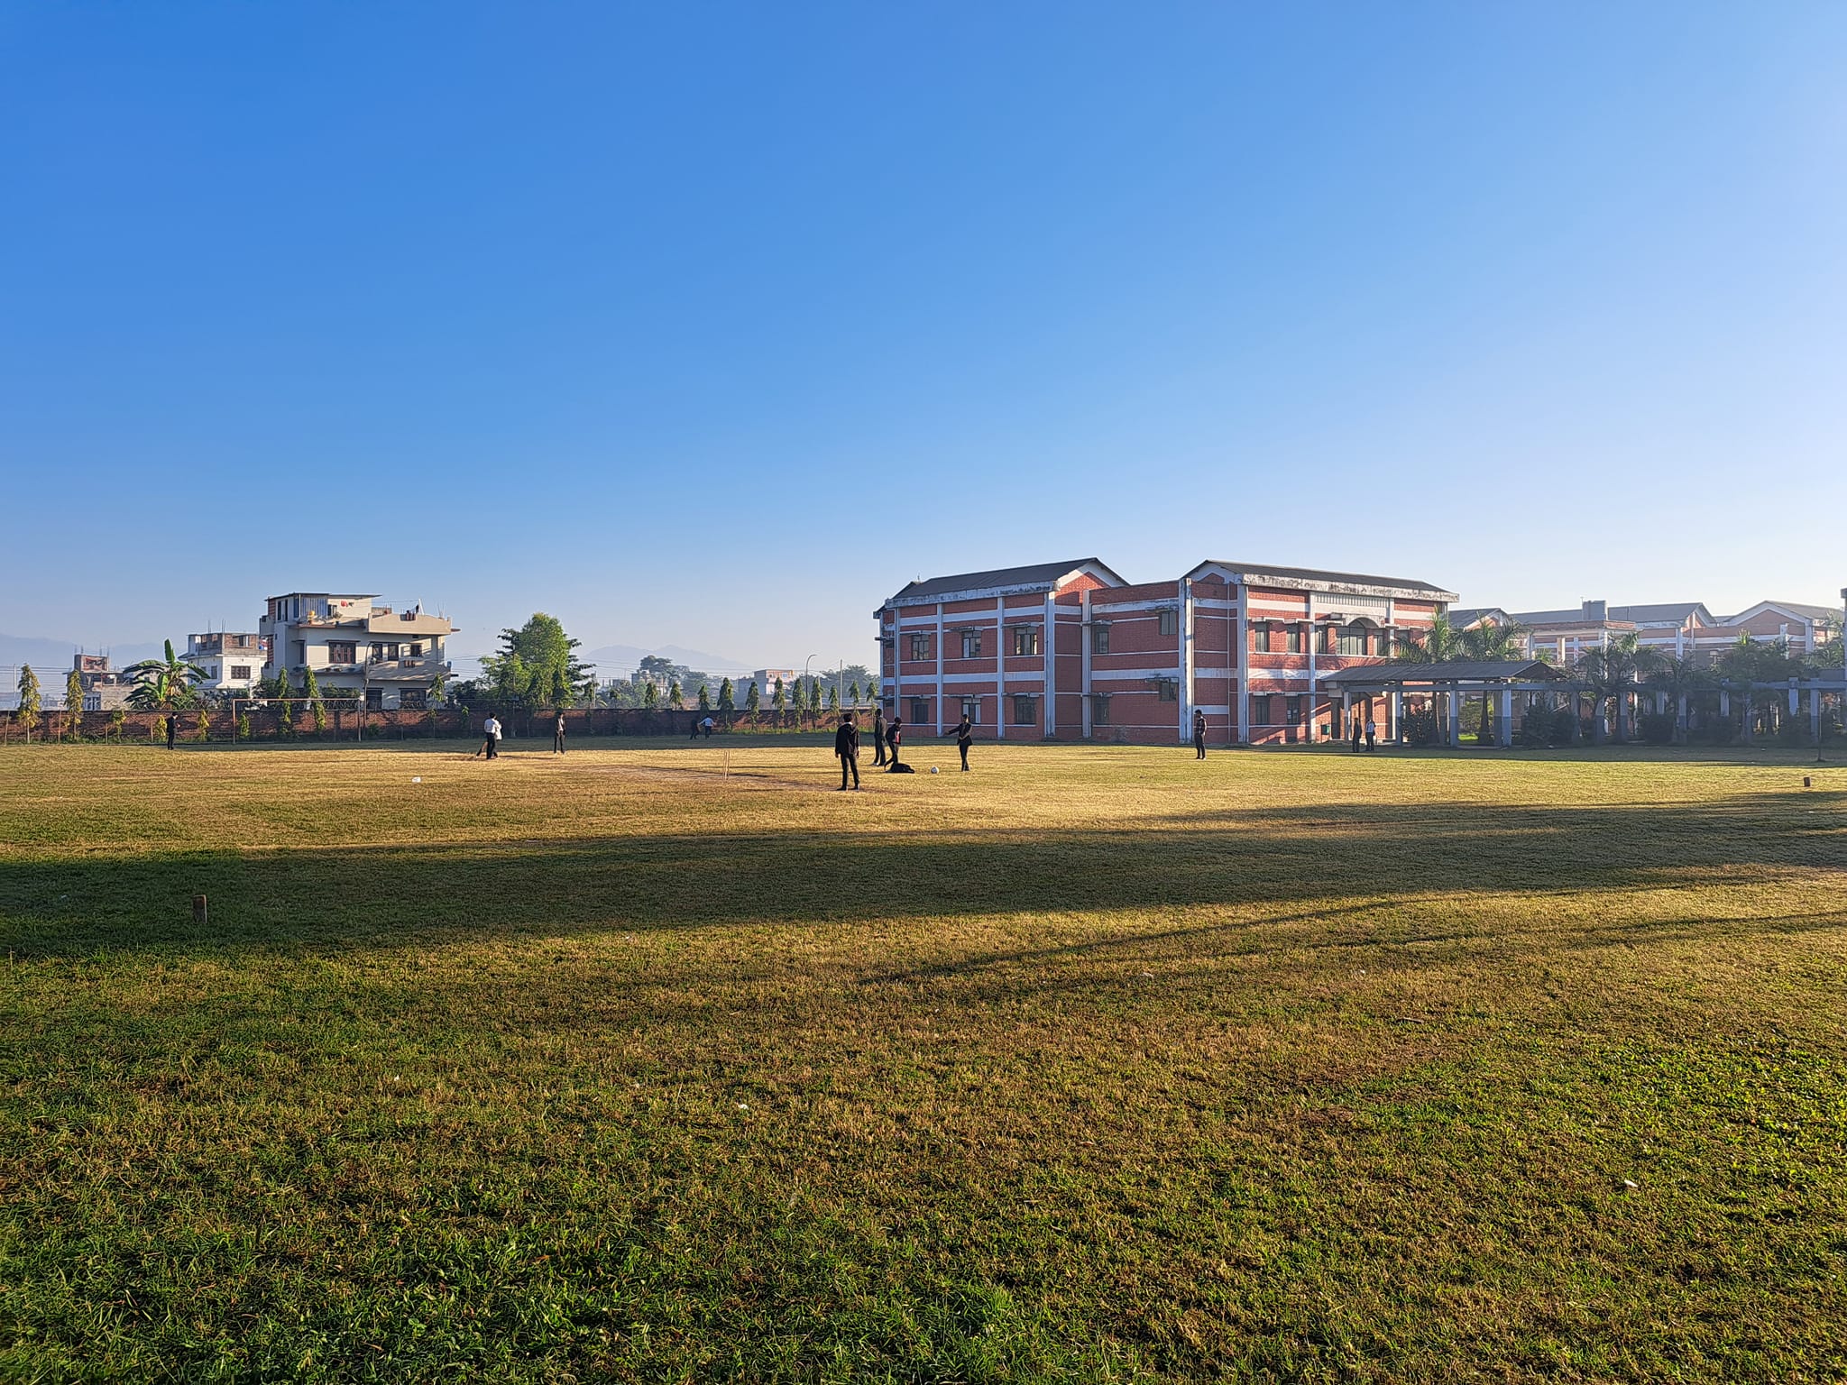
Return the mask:
POLYGON ((587 744, 0 753, 0 1378, 1847 1376, 1847 768, 587 744))

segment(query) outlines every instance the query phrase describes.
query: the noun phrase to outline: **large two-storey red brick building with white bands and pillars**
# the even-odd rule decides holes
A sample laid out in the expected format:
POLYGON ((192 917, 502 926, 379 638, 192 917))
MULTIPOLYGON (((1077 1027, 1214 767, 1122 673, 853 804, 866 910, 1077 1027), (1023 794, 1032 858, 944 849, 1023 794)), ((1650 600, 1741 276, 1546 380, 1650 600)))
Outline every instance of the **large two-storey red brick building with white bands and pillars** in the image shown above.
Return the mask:
MULTIPOLYGON (((874 615, 888 715, 966 713, 992 739, 1321 741, 1346 731, 1335 668, 1378 663, 1455 595, 1406 578, 1201 563, 1130 585, 1095 558, 918 580, 874 615)), ((1385 700, 1352 713, 1391 737, 1385 700)))

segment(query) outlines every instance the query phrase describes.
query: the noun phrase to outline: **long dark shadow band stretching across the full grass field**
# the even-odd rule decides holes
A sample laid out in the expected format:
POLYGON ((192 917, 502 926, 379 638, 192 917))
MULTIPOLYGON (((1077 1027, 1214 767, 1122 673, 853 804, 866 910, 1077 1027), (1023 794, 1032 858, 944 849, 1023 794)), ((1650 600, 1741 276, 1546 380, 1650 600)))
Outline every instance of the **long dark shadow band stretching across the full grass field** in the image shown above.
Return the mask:
MULTIPOLYGON (((1581 896, 1847 861, 1847 794, 1721 803, 1308 805, 1129 829, 580 837, 0 862, 24 957, 209 955, 739 923, 1230 909, 1332 918, 1454 894, 1581 896), (190 897, 211 897, 196 925, 190 897), (1317 912, 1321 910, 1321 912, 1317 912)), ((1278 920, 1280 921, 1280 920, 1278 920)), ((1145 934, 1138 934, 1145 936, 1145 934)))

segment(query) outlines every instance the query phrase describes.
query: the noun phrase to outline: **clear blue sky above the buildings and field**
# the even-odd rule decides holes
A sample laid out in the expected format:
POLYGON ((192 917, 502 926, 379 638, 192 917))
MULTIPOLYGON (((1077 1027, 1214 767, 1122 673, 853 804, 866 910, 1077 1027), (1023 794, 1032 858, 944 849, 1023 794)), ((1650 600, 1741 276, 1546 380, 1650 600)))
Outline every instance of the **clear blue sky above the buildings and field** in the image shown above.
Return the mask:
POLYGON ((0 0, 0 632, 1847 584, 1847 7, 0 0))

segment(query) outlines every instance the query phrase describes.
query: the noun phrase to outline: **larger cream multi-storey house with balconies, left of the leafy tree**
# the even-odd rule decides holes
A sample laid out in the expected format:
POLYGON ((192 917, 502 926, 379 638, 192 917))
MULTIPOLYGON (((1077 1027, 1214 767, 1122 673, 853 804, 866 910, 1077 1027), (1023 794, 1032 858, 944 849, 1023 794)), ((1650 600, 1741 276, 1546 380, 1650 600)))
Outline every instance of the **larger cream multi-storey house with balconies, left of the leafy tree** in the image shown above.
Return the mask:
POLYGON ((447 617, 421 606, 393 611, 373 595, 292 591, 270 596, 257 622, 268 641, 266 676, 288 674, 301 687, 308 668, 327 696, 364 696, 369 709, 429 705, 438 676, 447 678, 447 617))

